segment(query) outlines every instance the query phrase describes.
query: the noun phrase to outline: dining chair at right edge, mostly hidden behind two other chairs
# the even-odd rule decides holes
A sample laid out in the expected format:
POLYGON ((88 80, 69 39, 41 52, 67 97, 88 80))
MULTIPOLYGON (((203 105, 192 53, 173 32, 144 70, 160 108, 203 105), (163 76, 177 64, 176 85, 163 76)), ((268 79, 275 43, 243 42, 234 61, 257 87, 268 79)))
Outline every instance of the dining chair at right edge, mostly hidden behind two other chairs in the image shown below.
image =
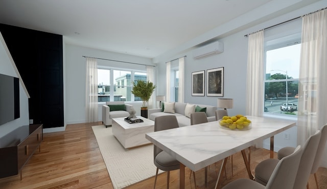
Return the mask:
MULTIPOLYGON (((327 124, 323 125, 323 127, 320 129, 320 131, 321 131, 320 141, 318 144, 317 153, 316 153, 315 159, 313 161, 312 169, 311 169, 311 174, 314 174, 317 188, 319 188, 319 185, 318 185, 316 173, 318 171, 319 164, 320 164, 322 154, 323 154, 323 150, 325 148, 326 141, 327 141, 327 124)), ((295 148, 293 148, 293 147, 282 148, 281 150, 278 151, 278 159, 282 159, 283 157, 291 154, 292 152, 294 152, 294 149, 295 148)), ((308 184, 308 188, 309 188, 309 184, 308 184)))

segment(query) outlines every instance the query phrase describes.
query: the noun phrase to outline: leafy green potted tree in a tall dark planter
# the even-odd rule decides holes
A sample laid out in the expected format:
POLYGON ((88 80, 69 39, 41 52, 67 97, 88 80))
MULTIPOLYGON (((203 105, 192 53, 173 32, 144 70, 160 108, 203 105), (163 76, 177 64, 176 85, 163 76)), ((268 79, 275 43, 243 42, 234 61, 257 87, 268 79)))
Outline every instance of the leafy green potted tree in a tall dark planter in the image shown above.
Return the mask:
POLYGON ((155 87, 156 86, 150 81, 137 80, 133 82, 131 93, 140 97, 143 101, 141 107, 142 117, 148 118, 148 107, 146 106, 146 103, 149 101, 155 87))

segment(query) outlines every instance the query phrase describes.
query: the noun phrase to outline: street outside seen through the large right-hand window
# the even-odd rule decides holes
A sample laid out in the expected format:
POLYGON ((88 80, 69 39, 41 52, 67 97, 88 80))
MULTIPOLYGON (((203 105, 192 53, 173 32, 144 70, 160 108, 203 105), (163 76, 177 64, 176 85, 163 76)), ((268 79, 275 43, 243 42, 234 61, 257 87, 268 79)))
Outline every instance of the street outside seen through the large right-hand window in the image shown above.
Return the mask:
MULTIPOLYGON (((298 105, 297 98, 288 97, 288 103, 295 103, 298 105)), ((276 100, 265 100, 265 107, 268 109, 268 113, 275 113, 275 114, 284 114, 286 111, 281 111, 281 106, 283 103, 286 103, 286 97, 278 97, 276 100), (271 104, 272 102, 272 104, 271 104)), ((297 110, 293 112, 297 115, 297 110)))

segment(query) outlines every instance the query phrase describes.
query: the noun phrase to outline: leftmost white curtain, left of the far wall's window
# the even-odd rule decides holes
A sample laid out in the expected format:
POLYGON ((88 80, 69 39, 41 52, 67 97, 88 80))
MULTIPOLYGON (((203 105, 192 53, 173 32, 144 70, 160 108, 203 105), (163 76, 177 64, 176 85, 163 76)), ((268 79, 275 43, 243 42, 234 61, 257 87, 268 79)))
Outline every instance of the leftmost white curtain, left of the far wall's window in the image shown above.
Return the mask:
POLYGON ((86 58, 86 92, 85 114, 86 122, 96 122, 98 119, 98 63, 96 58, 86 58))

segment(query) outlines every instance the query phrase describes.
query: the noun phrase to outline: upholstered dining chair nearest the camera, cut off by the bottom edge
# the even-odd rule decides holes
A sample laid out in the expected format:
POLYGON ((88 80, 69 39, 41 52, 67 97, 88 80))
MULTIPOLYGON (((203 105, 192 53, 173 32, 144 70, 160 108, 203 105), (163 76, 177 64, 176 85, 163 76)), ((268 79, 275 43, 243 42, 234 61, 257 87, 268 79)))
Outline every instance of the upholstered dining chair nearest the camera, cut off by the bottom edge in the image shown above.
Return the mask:
POLYGON ((301 146, 297 146, 293 154, 278 161, 267 185, 251 179, 237 179, 222 189, 292 189, 302 155, 301 146))

